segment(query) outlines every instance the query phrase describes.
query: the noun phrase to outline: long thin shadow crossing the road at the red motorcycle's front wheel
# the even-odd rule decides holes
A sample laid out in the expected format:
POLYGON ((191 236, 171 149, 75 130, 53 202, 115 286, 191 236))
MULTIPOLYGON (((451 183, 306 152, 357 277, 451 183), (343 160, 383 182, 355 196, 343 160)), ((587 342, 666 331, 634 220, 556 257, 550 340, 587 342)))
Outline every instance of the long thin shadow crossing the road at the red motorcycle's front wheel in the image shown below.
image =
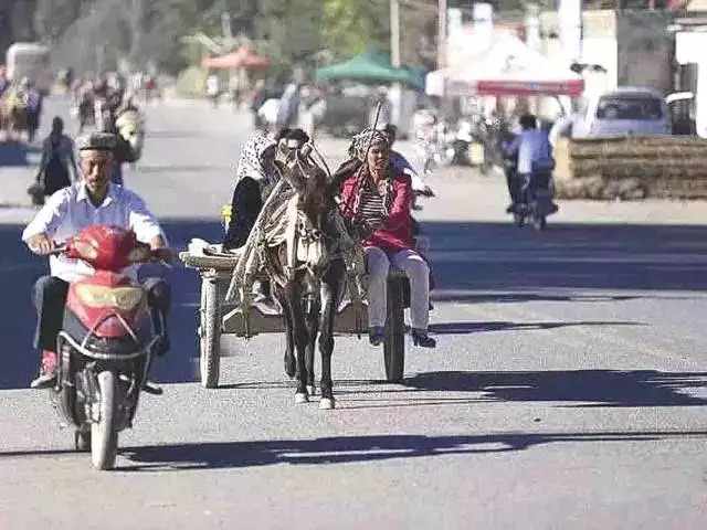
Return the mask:
MULTIPOLYGON (((509 433, 457 436, 371 435, 315 439, 218 442, 126 447, 119 453, 129 463, 114 473, 188 471, 273 465, 338 465, 450 455, 492 455, 526 451, 548 444, 675 443, 705 438, 707 431, 609 431, 573 433, 509 433)), ((75 455, 73 451, 0 452, 2 458, 75 455)))

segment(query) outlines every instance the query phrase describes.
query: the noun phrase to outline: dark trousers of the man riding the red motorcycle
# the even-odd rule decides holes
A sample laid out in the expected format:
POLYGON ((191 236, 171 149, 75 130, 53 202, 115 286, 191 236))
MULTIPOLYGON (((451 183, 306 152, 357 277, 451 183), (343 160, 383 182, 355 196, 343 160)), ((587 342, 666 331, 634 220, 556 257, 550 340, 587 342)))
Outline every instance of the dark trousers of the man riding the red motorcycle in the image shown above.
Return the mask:
MULTIPOLYGON (((147 290, 147 303, 150 307, 155 333, 167 335, 161 329, 161 322, 169 312, 171 305, 171 289, 162 278, 147 278, 143 286, 147 290), (161 318, 163 317, 163 318, 161 318)), ((64 322, 64 306, 68 294, 68 283, 55 276, 42 276, 32 289, 32 303, 36 309, 36 331, 34 348, 40 350, 56 350, 56 337, 64 322)))

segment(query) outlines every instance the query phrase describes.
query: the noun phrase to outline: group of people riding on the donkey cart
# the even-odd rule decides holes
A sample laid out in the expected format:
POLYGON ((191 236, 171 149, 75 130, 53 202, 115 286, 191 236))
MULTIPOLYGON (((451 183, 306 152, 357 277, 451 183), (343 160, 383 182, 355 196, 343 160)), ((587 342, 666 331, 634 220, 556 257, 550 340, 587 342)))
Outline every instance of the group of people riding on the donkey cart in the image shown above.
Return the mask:
MULTIPOLYGON (((369 340, 384 338, 388 273, 404 271, 410 279, 412 337, 415 344, 433 348, 428 335, 431 273, 416 248, 418 225, 412 218, 412 166, 392 150, 394 127, 368 128, 357 135, 334 178, 339 182, 340 214, 363 229, 368 288, 369 340)), ((309 141, 302 129, 283 129, 274 137, 253 134, 244 144, 236 170, 232 216, 223 240, 225 252, 239 253, 245 245, 264 202, 279 179, 276 147, 286 142, 299 148, 309 141)), ((267 283, 260 285, 258 299, 272 303, 267 283)))

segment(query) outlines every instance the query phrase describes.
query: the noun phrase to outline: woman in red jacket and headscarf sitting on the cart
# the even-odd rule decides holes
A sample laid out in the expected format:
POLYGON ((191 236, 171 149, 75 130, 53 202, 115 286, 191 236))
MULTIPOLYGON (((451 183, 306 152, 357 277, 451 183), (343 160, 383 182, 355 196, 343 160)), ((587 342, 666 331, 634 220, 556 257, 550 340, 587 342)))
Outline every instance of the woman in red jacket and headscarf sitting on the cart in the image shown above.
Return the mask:
POLYGON ((430 320, 430 267, 414 250, 414 226, 410 215, 412 184, 405 173, 397 174, 390 163, 388 136, 365 130, 356 136, 352 155, 362 162, 341 186, 342 215, 366 235, 363 247, 369 272, 368 326, 371 344, 386 336, 388 272, 392 266, 410 279, 410 319, 415 346, 434 348, 428 336, 430 320))

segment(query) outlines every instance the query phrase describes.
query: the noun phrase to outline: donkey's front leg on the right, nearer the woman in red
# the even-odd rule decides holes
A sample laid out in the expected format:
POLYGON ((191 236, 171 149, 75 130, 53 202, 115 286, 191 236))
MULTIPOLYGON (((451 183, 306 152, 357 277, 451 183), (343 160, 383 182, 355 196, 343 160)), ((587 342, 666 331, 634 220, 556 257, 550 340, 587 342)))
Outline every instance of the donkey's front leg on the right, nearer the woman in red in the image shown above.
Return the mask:
POLYGON ((319 352, 321 353, 321 400, 319 409, 336 407, 334 399, 334 383, 331 381, 331 354, 334 353, 334 319, 336 318, 337 301, 342 288, 345 274, 344 261, 335 259, 321 282, 321 329, 319 336, 319 352))

